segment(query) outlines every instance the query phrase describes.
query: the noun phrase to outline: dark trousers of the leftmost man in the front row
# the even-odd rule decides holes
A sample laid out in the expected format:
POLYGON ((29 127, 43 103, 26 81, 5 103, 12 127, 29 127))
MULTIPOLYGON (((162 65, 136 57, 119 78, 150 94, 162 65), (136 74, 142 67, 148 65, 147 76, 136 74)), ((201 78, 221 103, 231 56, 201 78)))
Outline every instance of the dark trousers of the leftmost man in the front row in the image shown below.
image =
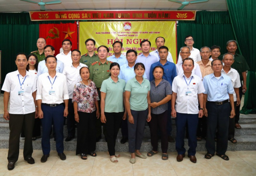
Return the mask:
POLYGON ((35 122, 35 112, 29 114, 9 114, 9 150, 8 150, 8 162, 17 162, 20 149, 20 133, 24 129, 25 141, 23 149, 24 159, 28 159, 32 156, 32 132, 35 122))

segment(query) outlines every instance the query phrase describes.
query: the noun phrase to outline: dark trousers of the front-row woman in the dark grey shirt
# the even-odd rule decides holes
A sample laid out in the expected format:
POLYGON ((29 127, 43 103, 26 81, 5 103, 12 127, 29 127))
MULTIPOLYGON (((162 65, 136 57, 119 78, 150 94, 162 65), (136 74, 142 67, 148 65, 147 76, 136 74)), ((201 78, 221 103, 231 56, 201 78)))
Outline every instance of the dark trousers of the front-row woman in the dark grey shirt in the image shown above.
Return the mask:
POLYGON ((152 114, 151 121, 148 122, 150 127, 151 145, 153 151, 158 150, 158 130, 161 133, 161 148, 163 153, 167 153, 168 150, 168 135, 167 135, 167 118, 168 111, 164 111, 162 114, 152 114))

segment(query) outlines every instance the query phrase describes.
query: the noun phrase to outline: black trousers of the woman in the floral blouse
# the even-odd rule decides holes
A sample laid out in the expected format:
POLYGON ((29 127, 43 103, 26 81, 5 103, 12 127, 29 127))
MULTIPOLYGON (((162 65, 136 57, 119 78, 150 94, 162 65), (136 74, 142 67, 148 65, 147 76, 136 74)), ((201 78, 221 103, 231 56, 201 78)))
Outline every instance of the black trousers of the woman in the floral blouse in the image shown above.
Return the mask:
POLYGON ((78 111, 76 155, 87 154, 96 149, 96 111, 85 113, 78 111))

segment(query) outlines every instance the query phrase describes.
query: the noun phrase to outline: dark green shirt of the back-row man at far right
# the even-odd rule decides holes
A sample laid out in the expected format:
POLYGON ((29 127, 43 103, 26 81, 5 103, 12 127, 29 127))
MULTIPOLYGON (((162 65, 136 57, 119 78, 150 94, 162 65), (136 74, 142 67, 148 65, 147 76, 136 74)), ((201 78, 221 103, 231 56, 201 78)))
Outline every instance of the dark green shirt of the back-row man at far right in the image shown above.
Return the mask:
MULTIPOLYGON (((222 60, 223 55, 218 57, 218 59, 222 60)), ((234 56, 235 56, 235 62, 231 65, 231 68, 234 68, 239 73, 240 81, 242 81, 243 80, 242 72, 248 71, 250 70, 250 68, 245 58, 241 54, 235 54, 234 56)))

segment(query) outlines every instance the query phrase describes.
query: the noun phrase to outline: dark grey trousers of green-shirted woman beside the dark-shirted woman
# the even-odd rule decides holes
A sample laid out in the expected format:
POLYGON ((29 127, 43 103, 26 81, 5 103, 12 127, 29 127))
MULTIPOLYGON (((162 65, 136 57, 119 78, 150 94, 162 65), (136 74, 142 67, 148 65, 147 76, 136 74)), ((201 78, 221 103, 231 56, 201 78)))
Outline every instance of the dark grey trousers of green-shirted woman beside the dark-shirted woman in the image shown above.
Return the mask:
POLYGON ((128 139, 129 139, 129 152, 134 153, 135 150, 140 150, 144 129, 146 125, 146 119, 148 117, 148 109, 144 111, 131 110, 131 115, 134 118, 134 124, 128 121, 128 139))

